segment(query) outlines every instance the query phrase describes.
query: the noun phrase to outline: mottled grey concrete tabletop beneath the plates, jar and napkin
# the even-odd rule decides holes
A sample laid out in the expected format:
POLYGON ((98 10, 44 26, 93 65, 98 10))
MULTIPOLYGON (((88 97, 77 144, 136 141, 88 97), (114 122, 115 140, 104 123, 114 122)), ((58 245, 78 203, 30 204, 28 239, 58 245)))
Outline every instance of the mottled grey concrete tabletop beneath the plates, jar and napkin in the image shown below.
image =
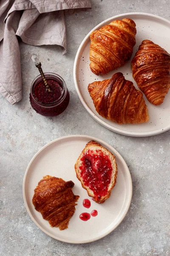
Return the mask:
POLYGON ((91 0, 92 9, 66 17, 68 54, 58 46, 20 43, 23 100, 10 105, 0 96, 0 255, 1 256, 169 256, 170 131, 153 137, 126 137, 99 125, 82 106, 73 81, 74 58, 83 38, 102 20, 125 12, 148 12, 170 20, 170 0, 91 0), (67 110, 47 118, 32 110, 30 57, 37 52, 44 71, 59 73, 70 90, 67 110), (28 216, 22 184, 26 167, 46 143, 69 134, 98 137, 124 157, 133 180, 133 198, 124 221, 90 244, 65 244, 42 233, 28 216))

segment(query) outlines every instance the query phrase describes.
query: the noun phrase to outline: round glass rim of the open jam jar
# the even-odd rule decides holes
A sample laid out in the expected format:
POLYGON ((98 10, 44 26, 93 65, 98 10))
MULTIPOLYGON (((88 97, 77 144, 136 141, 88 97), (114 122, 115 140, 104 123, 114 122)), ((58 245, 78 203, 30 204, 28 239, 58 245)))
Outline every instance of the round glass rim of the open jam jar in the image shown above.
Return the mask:
POLYGON ((62 79, 62 77, 59 76, 59 75, 56 74, 56 73, 44 72, 44 75, 45 75, 45 78, 46 78, 46 79, 50 79, 50 78, 51 78, 51 79, 54 79, 54 80, 56 80, 56 81, 57 81, 57 80, 59 81, 59 83, 62 85, 62 89, 63 89, 63 90, 62 90, 62 93, 61 93, 61 96, 59 96, 59 99, 57 99, 56 101, 51 102, 51 103, 42 103, 42 102, 38 101, 38 100, 36 99, 36 97, 34 96, 34 93, 33 93, 33 89, 34 89, 35 83, 38 83, 38 82, 40 82, 40 81, 43 81, 42 76, 41 76, 41 75, 38 75, 38 76, 36 76, 36 77, 33 79, 32 83, 31 83, 31 89, 30 89, 31 97, 32 97, 32 99, 34 100, 34 102, 36 102, 37 105, 42 106, 43 108, 53 108, 54 106, 59 105, 59 104, 65 99, 65 96, 66 96, 66 94, 67 94, 67 86, 66 86, 66 84, 65 84, 64 79, 62 79))

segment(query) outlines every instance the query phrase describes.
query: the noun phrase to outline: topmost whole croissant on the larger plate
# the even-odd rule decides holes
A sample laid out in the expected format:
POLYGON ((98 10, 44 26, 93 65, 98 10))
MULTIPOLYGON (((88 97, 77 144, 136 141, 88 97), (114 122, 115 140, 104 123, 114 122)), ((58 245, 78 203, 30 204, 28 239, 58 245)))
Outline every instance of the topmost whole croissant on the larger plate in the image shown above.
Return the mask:
POLYGON ((136 24, 131 19, 113 20, 91 33, 90 68, 97 76, 107 74, 130 60, 136 44, 136 24))

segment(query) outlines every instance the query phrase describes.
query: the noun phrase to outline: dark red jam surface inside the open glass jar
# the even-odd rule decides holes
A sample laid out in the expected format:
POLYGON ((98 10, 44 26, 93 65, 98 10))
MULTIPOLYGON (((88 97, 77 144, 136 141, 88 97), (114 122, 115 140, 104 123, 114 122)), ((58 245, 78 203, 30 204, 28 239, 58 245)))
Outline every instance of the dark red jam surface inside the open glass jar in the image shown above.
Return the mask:
POLYGON ((38 101, 48 104, 59 99, 59 97, 62 95, 62 87, 61 84, 54 79, 46 80, 48 82, 50 91, 48 91, 44 81, 40 81, 34 89, 34 94, 38 101))

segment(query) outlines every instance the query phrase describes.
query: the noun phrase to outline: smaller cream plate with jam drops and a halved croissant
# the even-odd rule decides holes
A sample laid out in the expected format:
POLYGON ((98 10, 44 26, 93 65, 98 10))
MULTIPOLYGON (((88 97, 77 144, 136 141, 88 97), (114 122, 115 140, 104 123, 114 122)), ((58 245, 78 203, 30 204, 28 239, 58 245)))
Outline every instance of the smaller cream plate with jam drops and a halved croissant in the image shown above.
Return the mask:
POLYGON ((111 233, 125 218, 132 198, 132 180, 125 160, 113 147, 94 137, 72 135, 48 143, 35 154, 24 176, 23 198, 31 219, 48 236, 67 243, 89 243, 111 233), (74 171, 77 158, 90 140, 96 140, 116 156, 117 182, 111 197, 104 204, 97 204, 88 196, 74 171), (42 218, 32 204, 34 189, 45 175, 61 177, 65 181, 72 180, 75 184, 73 192, 74 195, 79 195, 79 200, 66 230, 61 231, 57 227, 50 227, 48 221, 42 218), (91 201, 89 209, 82 205, 85 198, 91 201), (88 221, 80 220, 79 215, 82 212, 90 213, 94 209, 98 211, 96 217, 91 217, 88 221))

